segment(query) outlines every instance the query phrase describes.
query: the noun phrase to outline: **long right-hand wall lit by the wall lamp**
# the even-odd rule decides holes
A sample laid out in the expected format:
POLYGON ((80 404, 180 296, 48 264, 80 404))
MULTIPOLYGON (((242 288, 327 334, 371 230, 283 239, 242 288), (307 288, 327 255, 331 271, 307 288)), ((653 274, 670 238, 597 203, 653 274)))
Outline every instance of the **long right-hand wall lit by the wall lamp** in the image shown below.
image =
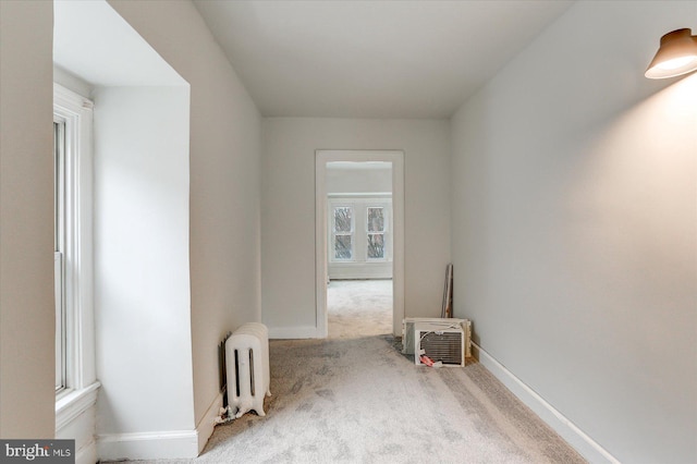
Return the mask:
POLYGON ((697 461, 697 75, 644 77, 696 26, 576 2, 452 121, 455 315, 621 462, 697 461))

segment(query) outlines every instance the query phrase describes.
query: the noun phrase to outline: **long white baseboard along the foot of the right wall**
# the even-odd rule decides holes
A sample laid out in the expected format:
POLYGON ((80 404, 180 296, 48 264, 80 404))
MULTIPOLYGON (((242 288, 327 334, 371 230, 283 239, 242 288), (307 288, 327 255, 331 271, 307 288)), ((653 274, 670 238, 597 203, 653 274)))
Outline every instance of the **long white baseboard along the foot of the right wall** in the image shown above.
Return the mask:
POLYGON ((542 396, 537 394, 531 388, 526 386, 504 365, 499 363, 493 356, 482 350, 476 343, 472 343, 475 350, 475 357, 491 374, 494 375, 513 394, 515 394, 526 406, 537 414, 547 425, 568 442, 578 453, 591 463, 620 464, 612 454, 602 448, 592 438, 588 437, 576 425, 568 420, 554 406, 549 404, 542 396))

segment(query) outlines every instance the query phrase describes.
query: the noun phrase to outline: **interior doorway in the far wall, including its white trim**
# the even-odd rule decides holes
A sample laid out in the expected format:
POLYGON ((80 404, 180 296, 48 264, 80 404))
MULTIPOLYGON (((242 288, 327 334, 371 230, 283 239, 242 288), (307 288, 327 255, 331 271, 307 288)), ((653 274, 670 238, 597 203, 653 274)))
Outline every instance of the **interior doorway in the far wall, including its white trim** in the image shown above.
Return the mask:
POLYGON ((348 330, 399 335, 404 318, 404 152, 318 150, 316 224, 318 337, 330 334, 330 317, 332 337, 350 335, 348 330), (386 309, 391 313, 387 320, 386 309))

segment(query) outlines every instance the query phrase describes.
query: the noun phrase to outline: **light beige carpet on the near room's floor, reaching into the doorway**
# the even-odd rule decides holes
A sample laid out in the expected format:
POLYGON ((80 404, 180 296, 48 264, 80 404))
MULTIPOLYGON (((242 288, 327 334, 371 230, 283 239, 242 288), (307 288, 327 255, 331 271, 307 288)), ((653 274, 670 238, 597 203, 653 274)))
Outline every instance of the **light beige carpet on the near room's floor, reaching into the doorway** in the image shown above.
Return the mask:
MULTIPOLYGON (((360 293, 340 300, 353 298, 363 318, 360 293)), ((415 366, 391 335, 352 335, 338 313, 334 338, 271 341, 266 417, 218 426, 198 459, 167 462, 585 462, 481 365, 415 366)))

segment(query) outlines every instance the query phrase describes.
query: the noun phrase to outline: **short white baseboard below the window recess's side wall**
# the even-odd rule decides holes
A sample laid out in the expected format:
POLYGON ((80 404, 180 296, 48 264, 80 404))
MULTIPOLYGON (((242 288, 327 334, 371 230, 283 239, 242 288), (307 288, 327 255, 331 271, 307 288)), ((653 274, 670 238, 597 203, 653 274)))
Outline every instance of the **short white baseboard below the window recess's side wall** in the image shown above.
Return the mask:
POLYGON ((196 430, 167 430, 97 436, 102 461, 174 460, 198 456, 196 430))

